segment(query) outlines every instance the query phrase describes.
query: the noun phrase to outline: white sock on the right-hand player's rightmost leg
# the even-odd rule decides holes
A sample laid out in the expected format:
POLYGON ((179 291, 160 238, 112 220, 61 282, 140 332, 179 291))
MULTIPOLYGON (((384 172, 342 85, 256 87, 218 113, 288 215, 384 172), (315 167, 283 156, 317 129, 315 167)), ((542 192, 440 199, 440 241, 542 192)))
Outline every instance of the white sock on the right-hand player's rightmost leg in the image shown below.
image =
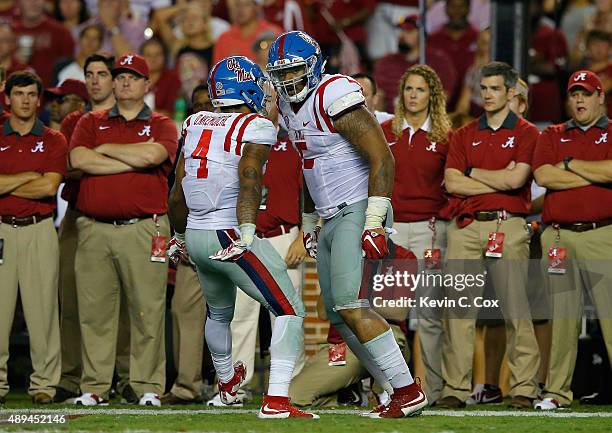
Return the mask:
POLYGON ((363 346, 370 352, 374 362, 389 379, 393 388, 402 388, 414 383, 391 329, 364 343, 363 346))

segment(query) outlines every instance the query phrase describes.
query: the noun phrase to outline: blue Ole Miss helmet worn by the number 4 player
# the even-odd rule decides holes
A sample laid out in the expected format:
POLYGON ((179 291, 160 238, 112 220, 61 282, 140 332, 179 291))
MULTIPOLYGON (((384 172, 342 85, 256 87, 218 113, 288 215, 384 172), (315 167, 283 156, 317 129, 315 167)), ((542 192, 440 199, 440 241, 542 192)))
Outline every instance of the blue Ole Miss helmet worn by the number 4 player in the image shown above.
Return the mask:
POLYGON ((247 105, 265 114, 266 78, 254 62, 242 56, 221 60, 210 71, 208 91, 215 108, 247 105))

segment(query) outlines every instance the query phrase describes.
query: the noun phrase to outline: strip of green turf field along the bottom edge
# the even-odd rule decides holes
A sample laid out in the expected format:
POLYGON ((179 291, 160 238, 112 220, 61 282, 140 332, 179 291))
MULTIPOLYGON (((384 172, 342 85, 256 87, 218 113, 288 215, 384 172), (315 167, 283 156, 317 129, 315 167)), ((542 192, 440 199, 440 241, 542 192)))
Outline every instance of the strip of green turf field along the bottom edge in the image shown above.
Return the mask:
MULTIPOLYGON (((73 405, 33 407, 25 395, 9 395, 0 407, 0 431, 149 431, 178 432, 612 432, 612 407, 581 407, 556 413, 513 411, 504 405, 461 411, 429 409, 421 416, 401 420, 373 420, 359 416, 359 410, 338 408, 315 410, 320 420, 259 420, 257 404, 244 408, 173 406, 140 408, 111 404, 99 408, 73 405), (35 423, 30 415, 46 415, 52 423, 35 423), (13 422, 9 417, 13 416, 13 422), (16 417, 26 422, 16 423, 16 417), (65 420, 64 423, 59 421, 65 420)), ((39 416, 39 420, 42 420, 39 416)))

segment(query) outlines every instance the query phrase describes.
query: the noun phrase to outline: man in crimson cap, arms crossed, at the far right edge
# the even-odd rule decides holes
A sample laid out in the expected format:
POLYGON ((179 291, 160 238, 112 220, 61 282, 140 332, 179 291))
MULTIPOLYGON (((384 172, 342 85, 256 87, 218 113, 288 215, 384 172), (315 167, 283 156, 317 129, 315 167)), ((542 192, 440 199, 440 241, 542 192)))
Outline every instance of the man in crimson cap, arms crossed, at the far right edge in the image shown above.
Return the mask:
POLYGON ((552 303, 552 346, 544 399, 535 405, 543 410, 572 402, 584 290, 595 303, 612 357, 612 122, 602 114, 604 92, 596 74, 574 72, 567 92, 572 118, 546 128, 533 164, 537 183, 547 188, 542 221, 550 224, 542 234, 542 257, 552 303), (566 266, 551 272, 551 262, 563 253, 566 266))

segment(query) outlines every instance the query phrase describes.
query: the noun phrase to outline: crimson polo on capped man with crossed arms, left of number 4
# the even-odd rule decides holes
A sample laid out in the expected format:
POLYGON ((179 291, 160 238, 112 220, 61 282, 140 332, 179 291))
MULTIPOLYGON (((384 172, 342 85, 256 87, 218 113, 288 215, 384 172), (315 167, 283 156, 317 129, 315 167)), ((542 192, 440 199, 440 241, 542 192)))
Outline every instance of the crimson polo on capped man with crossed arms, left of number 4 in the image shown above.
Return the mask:
POLYGON ((70 150, 94 149, 105 143, 142 143, 153 139, 164 146, 168 158, 157 167, 109 175, 84 174, 77 209, 100 219, 124 219, 168 211, 168 174, 177 151, 174 121, 151 111, 145 104, 136 118, 127 121, 115 105, 110 110, 83 115, 70 140, 70 150))

